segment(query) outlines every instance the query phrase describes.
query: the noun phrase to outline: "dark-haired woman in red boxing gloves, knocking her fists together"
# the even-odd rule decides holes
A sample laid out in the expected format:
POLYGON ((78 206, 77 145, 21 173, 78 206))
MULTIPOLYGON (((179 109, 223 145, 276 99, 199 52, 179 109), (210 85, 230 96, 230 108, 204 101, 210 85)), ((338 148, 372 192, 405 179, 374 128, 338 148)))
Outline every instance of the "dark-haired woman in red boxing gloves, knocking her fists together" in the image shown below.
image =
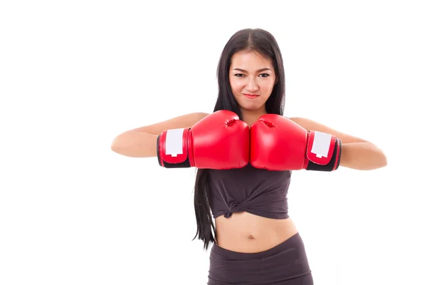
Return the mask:
POLYGON ((129 130, 115 138, 112 150, 157 156, 163 167, 198 168, 196 236, 205 249, 213 243, 208 284, 313 284, 304 244, 288 216, 292 170, 373 170, 386 165, 386 156, 367 140, 283 117, 283 60, 268 31, 243 29, 231 36, 217 72, 214 113, 129 130), (312 155, 319 145, 326 155, 312 155))

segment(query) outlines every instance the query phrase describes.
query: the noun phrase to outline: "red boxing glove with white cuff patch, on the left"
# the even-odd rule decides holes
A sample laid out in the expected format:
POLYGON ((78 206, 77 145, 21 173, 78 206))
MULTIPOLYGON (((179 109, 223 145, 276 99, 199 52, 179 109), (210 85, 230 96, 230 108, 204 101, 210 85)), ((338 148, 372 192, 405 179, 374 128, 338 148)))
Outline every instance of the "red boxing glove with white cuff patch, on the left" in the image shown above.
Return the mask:
POLYGON ((193 128, 164 130, 157 138, 162 167, 216 170, 241 168, 249 162, 249 126, 238 115, 218 110, 193 128))

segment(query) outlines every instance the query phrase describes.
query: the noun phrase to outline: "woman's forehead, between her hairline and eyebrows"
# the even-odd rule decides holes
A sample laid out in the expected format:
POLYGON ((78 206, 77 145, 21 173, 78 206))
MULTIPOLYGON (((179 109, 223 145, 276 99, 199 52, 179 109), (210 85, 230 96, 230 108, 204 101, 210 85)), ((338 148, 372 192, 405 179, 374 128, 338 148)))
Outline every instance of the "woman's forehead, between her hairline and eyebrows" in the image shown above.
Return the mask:
POLYGON ((251 68, 273 69, 273 61, 271 61, 270 58, 265 58, 261 53, 258 53, 258 51, 239 51, 238 53, 234 53, 231 57, 231 68, 243 68, 246 70, 251 68))

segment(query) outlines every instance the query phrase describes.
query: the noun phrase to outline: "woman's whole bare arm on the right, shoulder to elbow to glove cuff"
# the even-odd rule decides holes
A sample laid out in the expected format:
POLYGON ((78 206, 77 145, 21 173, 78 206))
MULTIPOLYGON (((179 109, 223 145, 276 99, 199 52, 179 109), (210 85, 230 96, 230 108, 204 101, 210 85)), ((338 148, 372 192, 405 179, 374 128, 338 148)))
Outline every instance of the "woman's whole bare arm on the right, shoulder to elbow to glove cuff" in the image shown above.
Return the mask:
POLYGON ((317 130, 322 133, 335 135, 342 141, 340 165, 356 170, 374 170, 387 165, 384 152, 372 142, 339 132, 306 118, 290 118, 305 130, 317 130))

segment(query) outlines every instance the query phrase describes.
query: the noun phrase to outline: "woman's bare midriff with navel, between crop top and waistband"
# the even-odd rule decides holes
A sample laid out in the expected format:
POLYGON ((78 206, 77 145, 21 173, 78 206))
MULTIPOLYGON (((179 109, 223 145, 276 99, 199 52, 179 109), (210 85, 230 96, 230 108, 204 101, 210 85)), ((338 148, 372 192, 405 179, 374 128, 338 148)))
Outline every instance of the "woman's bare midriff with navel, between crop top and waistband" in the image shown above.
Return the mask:
POLYGON ((263 252, 297 233, 292 219, 268 219, 248 212, 215 219, 218 246, 233 252, 263 252))

